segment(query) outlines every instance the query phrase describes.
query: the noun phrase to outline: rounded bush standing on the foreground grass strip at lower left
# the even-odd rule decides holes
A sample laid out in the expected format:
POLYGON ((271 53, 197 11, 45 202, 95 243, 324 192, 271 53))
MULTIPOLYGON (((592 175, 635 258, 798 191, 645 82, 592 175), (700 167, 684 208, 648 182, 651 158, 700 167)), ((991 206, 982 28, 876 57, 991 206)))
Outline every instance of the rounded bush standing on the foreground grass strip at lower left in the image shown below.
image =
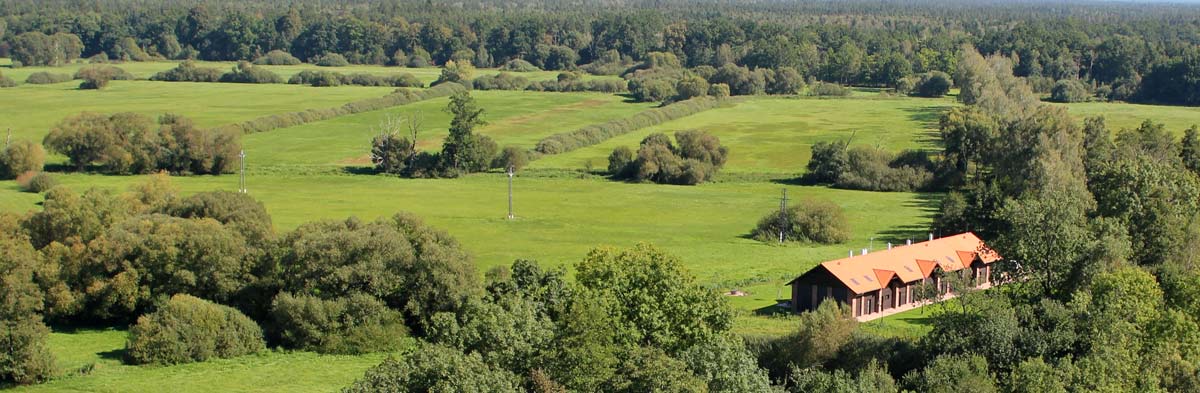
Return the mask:
POLYGON ((262 351, 263 329, 232 307, 175 295, 130 327, 125 355, 134 364, 179 364, 262 351))

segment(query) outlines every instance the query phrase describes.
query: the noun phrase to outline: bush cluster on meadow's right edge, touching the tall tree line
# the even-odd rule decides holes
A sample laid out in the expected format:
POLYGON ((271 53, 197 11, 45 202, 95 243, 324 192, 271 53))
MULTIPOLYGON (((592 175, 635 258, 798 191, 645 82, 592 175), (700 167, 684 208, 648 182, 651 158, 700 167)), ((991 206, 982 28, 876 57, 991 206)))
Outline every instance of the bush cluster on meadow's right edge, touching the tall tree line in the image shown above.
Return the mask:
POLYGON ((846 147, 838 141, 812 145, 808 170, 805 176, 811 182, 847 189, 911 192, 937 183, 937 164, 923 151, 893 155, 866 146, 846 147))

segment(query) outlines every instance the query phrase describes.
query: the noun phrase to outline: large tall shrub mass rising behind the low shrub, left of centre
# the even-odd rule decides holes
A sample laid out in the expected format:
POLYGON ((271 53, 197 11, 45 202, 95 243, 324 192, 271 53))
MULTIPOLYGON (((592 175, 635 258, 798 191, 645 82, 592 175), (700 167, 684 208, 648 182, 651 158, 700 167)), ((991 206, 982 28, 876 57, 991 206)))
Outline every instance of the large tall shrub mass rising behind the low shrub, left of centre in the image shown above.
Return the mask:
POLYGON ((409 214, 308 223, 284 236, 281 248, 283 291, 322 300, 371 295, 418 329, 433 314, 457 310, 478 285, 457 241, 409 214))

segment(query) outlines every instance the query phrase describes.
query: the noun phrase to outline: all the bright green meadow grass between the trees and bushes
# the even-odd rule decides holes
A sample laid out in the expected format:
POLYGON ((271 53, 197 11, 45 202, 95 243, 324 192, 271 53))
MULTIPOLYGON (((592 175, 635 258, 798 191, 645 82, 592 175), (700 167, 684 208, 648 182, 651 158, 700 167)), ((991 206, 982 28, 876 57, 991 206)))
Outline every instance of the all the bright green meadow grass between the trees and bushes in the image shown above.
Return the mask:
MULTIPOLYGON (((209 64, 229 67, 232 64, 209 64)), ((145 78, 174 62, 122 64, 145 78)), ((22 83, 31 72, 0 71, 22 83)), ((79 65, 50 68, 71 73, 79 65)), ((301 69, 391 73, 412 72, 422 80, 437 68, 380 66, 271 66, 282 75, 301 69)), ((480 73, 493 73, 484 69, 480 73)), ((526 73, 551 79, 557 73, 526 73)), ((178 113, 211 127, 262 115, 326 108, 390 92, 391 87, 310 87, 114 81, 102 91, 82 91, 76 83, 20 84, 0 91, 0 127, 14 138, 41 140, 65 116, 79 111, 178 113)), ((653 104, 630 103, 605 93, 474 91, 485 109, 486 126, 478 132, 500 146, 533 147, 541 138, 631 116, 653 104)), ((638 129, 563 155, 544 156, 514 179, 516 219, 505 219, 508 176, 500 173, 460 179, 408 180, 362 174, 378 125, 389 116, 420 119, 419 147, 437 150, 450 115, 446 98, 341 116, 270 132, 247 134, 247 183, 251 195, 271 213, 277 231, 317 219, 374 219, 400 211, 413 212, 454 235, 473 255, 479 271, 535 259, 547 266, 572 266, 595 247, 654 243, 678 255, 691 274, 714 290, 739 290, 727 300, 738 310, 736 331, 748 335, 778 335, 794 328, 794 318, 774 307, 790 296, 784 283, 814 265, 841 258, 851 249, 882 249, 888 242, 928 236, 940 205, 936 193, 875 193, 798 186, 810 147, 818 141, 846 140, 853 145, 899 151, 938 149, 940 115, 958 105, 952 98, 886 97, 858 90, 846 98, 752 97, 738 103, 655 127, 638 129), (635 147, 650 133, 703 129, 730 147, 730 161, 716 182, 701 186, 661 186, 611 181, 586 168, 604 169, 617 146, 635 147), (828 199, 840 205, 852 226, 851 240, 835 246, 778 246, 749 238, 750 230, 779 206, 786 189, 792 200, 828 199)), ((1136 127, 1144 119, 1180 132, 1200 122, 1196 108, 1123 103, 1079 103, 1070 113, 1104 115, 1114 129, 1136 127)), ((61 158, 54 158, 61 159, 61 158)), ((52 159, 52 161, 54 161, 52 159)), ((74 189, 90 187, 124 192, 145 176, 55 174, 74 189)), ((238 176, 174 177, 184 194, 238 188, 238 176)), ((22 193, 16 182, 0 181, 0 211, 37 210, 42 195, 22 193)), ((884 335, 919 337, 928 332, 928 313, 912 310, 864 324, 884 335)), ((132 367, 120 361, 121 329, 59 331, 50 344, 64 370, 60 379, 18 392, 154 392, 170 386, 179 392, 330 392, 377 364, 385 353, 319 356, 268 351, 235 359, 175 367, 132 367), (305 373, 296 373, 305 370, 305 373)))

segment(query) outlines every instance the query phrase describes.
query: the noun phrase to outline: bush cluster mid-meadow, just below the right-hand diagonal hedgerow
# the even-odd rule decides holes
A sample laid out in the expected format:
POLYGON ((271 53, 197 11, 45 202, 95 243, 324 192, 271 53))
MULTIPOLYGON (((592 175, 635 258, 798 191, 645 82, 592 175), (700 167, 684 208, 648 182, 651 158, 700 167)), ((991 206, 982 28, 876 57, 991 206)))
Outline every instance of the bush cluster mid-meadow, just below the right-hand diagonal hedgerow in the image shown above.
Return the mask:
POLYGON ((727 158, 728 149, 716 137, 702 131, 680 131, 674 144, 666 134, 646 137, 636 157, 628 147, 617 147, 610 156, 608 169, 616 179, 698 185, 716 175, 727 158))

